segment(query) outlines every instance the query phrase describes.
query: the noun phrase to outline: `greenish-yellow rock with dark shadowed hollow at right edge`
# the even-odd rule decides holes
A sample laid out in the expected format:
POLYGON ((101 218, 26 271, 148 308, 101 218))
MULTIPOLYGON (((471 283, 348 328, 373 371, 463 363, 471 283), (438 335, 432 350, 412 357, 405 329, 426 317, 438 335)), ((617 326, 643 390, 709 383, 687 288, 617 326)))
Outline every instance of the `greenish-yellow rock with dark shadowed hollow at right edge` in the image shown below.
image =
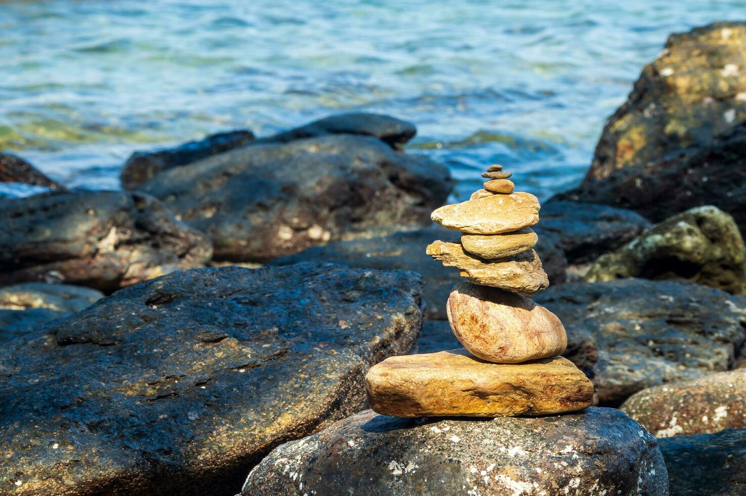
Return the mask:
POLYGON ((614 253, 602 255, 586 280, 683 278, 743 295, 746 248, 733 217, 695 207, 651 227, 614 253))

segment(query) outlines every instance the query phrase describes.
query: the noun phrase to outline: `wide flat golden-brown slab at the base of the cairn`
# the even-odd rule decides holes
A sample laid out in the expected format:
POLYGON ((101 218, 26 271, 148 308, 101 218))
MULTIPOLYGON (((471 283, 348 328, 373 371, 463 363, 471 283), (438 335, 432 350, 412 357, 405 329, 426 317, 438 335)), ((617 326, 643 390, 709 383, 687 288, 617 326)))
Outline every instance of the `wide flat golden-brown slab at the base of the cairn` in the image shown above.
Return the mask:
POLYGON ((366 375, 368 403, 397 417, 510 417, 590 406, 593 385, 562 357, 498 364, 463 348, 390 357, 366 375))

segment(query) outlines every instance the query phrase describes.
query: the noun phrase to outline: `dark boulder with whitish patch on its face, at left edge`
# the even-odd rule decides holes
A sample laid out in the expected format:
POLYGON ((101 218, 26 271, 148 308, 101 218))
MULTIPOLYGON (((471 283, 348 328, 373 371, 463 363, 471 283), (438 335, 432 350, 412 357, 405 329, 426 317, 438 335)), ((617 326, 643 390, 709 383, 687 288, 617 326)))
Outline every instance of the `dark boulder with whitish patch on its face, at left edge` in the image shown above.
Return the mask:
POLYGON ((104 292, 210 260, 209 239, 140 193, 0 198, 0 286, 62 280, 104 292))

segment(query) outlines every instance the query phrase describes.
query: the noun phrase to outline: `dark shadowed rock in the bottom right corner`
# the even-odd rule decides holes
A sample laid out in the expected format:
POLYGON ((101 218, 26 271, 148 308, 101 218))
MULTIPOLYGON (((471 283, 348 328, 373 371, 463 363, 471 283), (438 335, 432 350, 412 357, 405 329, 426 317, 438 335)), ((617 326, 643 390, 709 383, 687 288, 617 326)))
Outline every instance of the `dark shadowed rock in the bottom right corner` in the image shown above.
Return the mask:
POLYGON ((746 494, 746 430, 658 440, 671 495, 746 494))

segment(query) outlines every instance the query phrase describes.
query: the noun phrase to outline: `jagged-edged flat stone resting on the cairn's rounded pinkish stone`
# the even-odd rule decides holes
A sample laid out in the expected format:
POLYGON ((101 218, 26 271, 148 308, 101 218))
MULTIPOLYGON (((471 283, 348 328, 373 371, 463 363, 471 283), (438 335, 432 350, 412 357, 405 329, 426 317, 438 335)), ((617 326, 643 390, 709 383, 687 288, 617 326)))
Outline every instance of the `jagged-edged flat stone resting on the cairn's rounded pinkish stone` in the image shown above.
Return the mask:
POLYGON ((468 254, 460 243, 435 241, 427 246, 427 254, 446 267, 461 269, 463 277, 480 286, 492 286, 524 296, 536 295, 549 286, 542 261, 533 250, 485 260, 468 254))

